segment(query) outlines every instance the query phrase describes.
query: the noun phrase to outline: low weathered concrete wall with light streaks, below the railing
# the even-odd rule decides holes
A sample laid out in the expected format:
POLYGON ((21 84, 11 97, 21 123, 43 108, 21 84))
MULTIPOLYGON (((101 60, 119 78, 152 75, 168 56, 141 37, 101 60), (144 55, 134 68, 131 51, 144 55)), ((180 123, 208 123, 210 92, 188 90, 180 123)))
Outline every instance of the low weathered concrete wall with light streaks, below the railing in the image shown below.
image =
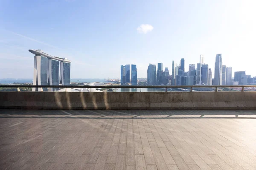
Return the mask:
POLYGON ((1 109, 256 109, 256 91, 0 92, 1 109))

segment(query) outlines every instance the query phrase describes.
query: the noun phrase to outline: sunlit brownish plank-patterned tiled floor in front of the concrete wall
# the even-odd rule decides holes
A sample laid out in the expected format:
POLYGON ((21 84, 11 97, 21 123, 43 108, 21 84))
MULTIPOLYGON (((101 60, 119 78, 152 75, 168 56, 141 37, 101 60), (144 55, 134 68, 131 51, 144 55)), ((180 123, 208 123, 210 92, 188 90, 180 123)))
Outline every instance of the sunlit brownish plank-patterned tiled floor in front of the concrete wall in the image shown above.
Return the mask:
POLYGON ((256 111, 0 110, 0 169, 253 170, 256 111))

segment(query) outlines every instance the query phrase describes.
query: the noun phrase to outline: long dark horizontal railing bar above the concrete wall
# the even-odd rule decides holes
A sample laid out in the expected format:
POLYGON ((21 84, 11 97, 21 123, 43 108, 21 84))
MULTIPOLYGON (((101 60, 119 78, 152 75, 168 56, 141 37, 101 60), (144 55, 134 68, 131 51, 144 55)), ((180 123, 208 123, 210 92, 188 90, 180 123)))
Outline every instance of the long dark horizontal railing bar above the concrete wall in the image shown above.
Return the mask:
POLYGON ((0 88, 249 88, 256 85, 0 85, 0 88))

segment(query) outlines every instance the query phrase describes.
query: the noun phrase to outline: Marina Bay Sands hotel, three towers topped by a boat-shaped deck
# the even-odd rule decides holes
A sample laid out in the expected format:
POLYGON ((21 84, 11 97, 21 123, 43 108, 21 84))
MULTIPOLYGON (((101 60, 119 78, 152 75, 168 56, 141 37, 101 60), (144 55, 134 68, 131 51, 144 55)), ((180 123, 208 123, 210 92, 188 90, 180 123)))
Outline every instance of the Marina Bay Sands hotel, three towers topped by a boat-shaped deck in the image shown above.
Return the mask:
MULTIPOLYGON (((29 50, 34 57, 33 85, 70 85, 70 63, 41 50, 29 50)), ((58 91, 58 88, 32 88, 32 91, 58 91)))

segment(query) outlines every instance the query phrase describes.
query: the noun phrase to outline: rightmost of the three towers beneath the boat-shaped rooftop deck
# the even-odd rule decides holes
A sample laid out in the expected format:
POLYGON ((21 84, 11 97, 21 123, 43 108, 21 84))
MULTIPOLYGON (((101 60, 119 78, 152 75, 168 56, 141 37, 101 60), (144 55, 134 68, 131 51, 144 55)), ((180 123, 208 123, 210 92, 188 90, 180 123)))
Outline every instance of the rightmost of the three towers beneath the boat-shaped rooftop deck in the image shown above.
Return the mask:
POLYGON ((70 63, 61 62, 60 63, 60 84, 70 85, 70 63))

